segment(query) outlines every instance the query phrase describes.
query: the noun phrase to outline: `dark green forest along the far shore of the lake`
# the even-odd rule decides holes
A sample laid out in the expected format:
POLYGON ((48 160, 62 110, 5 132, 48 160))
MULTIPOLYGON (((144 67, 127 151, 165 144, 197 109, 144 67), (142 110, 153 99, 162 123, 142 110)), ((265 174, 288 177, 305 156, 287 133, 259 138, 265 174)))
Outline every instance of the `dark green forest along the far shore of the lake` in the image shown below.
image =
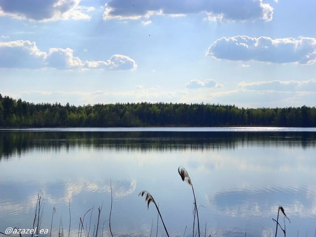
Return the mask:
POLYGON ((31 103, 0 94, 0 127, 277 126, 316 127, 316 108, 239 108, 194 103, 115 103, 74 106, 31 103))

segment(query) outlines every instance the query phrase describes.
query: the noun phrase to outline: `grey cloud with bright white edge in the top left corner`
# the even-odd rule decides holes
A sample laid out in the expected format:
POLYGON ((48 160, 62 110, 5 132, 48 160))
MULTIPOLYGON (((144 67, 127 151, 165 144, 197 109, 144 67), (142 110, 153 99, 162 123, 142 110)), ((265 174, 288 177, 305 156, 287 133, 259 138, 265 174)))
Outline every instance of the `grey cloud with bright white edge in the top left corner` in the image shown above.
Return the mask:
POLYGON ((81 0, 0 0, 0 16, 31 21, 89 20, 93 7, 79 6, 81 0))

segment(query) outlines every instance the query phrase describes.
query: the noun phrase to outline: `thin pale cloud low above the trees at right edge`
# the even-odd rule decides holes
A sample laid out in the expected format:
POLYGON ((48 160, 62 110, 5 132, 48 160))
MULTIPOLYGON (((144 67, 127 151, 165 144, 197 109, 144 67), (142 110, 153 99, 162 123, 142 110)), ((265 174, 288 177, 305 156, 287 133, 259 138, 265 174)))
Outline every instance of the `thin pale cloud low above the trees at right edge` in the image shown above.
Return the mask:
POLYGON ((272 91, 316 91, 316 79, 306 81, 240 82, 239 88, 272 91))

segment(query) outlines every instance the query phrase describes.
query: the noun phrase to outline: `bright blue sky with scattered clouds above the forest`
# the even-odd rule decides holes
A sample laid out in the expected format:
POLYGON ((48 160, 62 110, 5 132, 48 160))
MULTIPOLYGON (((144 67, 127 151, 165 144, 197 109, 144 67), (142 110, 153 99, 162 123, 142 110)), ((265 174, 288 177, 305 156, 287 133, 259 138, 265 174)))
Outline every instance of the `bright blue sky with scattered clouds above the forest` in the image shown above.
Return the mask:
POLYGON ((312 0, 0 0, 0 93, 315 106, 312 0))

